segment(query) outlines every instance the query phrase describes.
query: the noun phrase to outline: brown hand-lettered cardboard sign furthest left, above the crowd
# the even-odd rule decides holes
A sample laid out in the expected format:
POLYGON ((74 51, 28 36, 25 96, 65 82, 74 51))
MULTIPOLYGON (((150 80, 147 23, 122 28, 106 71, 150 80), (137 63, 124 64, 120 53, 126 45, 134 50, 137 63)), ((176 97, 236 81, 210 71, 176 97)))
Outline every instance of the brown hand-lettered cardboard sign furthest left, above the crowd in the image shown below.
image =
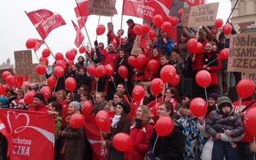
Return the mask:
POLYGON ((15 75, 17 77, 32 76, 32 52, 31 50, 14 51, 15 75))

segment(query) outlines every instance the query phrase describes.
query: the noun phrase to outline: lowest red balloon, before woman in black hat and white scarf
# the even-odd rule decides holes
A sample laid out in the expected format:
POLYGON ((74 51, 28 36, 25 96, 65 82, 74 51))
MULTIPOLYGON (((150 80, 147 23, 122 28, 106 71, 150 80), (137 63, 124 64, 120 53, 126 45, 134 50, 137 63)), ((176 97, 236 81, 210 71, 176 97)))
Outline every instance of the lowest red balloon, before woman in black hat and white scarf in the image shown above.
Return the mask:
POLYGON ((112 142, 116 150, 119 150, 120 152, 131 150, 134 145, 134 141, 132 140, 131 136, 125 132, 119 132, 116 134, 113 137, 112 142))

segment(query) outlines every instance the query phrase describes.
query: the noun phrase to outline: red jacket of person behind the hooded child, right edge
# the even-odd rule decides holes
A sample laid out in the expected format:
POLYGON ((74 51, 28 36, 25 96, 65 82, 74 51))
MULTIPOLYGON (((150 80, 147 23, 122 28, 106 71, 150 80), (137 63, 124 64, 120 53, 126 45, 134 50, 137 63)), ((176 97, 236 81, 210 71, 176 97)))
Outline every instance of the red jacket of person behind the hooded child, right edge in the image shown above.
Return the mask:
MULTIPOLYGON (((246 108, 246 106, 248 106, 250 103, 252 103, 253 101, 255 101, 255 99, 252 99, 252 100, 242 100, 242 103, 241 103, 241 111, 246 108)), ((236 102, 233 102, 232 103, 234 106, 235 106, 235 109, 234 111, 238 113, 239 111, 239 100, 237 100, 236 102)), ((256 108, 256 103, 253 104, 252 106, 250 106, 250 108, 256 108)), ((246 111, 244 111, 244 113, 246 113, 246 111)), ((242 122, 244 122, 242 120, 242 122)), ((246 129, 246 127, 244 127, 244 137, 243 139, 241 140, 243 142, 246 142, 246 143, 252 143, 253 142, 253 136, 252 134, 250 134, 250 132, 246 129)))

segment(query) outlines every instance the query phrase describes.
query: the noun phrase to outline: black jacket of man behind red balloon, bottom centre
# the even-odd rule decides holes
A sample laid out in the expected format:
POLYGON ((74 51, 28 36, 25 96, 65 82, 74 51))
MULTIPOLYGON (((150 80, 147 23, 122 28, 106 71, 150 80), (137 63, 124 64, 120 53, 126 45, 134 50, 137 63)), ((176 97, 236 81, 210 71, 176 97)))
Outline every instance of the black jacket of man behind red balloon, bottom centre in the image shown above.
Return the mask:
POLYGON ((173 123, 173 131, 168 136, 158 136, 157 138, 157 132, 154 128, 149 140, 148 151, 153 152, 161 160, 184 160, 185 141, 182 133, 183 127, 177 120, 173 120, 173 123))

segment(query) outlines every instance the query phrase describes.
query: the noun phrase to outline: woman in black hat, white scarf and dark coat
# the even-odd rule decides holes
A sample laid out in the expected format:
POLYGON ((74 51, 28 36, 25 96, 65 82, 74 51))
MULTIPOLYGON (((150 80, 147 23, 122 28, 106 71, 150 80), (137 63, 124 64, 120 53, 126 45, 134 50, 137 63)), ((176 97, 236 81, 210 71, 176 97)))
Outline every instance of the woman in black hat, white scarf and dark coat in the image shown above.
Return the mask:
MULTIPOLYGON (((116 115, 113 117, 112 124, 110 126, 110 133, 106 133, 103 131, 101 132, 104 138, 109 140, 109 141, 102 141, 101 145, 109 148, 108 159, 110 160, 124 159, 125 152, 116 150, 112 140, 113 140, 113 137, 120 132, 129 134, 131 122, 128 114, 130 113, 130 111, 131 111, 131 108, 127 102, 125 102, 124 100, 118 102, 116 106, 116 115)), ((120 143, 118 145, 122 146, 124 144, 120 143)))

